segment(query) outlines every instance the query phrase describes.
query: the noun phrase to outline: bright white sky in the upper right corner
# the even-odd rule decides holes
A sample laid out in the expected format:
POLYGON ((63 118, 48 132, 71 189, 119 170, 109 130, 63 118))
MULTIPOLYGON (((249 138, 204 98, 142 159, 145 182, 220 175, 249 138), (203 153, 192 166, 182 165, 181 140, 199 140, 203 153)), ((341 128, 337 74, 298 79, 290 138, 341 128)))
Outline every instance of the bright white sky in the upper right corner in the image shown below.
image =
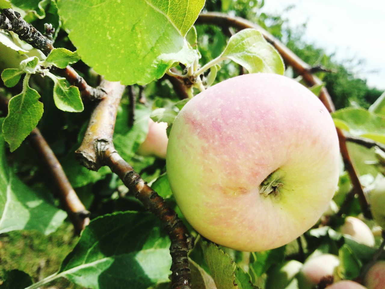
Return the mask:
POLYGON ((281 14, 289 19, 290 27, 306 22, 306 41, 336 52, 337 60, 365 60, 358 76, 366 78, 369 86, 385 89, 383 0, 265 0, 261 11, 281 14), (283 12, 292 4, 295 8, 283 12))

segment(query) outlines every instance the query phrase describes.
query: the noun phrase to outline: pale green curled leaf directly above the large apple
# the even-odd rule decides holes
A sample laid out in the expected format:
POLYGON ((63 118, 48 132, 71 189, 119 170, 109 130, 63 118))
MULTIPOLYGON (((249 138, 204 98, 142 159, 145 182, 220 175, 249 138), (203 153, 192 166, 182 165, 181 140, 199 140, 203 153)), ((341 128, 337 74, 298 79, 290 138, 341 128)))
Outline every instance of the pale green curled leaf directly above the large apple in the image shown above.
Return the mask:
POLYGON ((256 29, 243 29, 231 36, 220 58, 233 60, 249 73, 283 74, 285 71, 281 55, 256 29))

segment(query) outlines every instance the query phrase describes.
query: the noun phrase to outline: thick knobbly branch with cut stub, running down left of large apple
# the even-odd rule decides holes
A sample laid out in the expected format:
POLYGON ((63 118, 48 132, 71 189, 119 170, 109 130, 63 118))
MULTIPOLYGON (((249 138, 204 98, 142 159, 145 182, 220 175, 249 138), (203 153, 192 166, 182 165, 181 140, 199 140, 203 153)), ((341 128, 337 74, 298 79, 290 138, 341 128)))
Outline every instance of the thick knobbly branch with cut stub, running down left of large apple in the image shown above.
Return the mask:
POLYGON ((172 257, 171 281, 173 289, 190 288, 190 269, 187 259, 193 239, 177 214, 154 190, 137 174, 117 153, 112 143, 117 108, 124 86, 118 82, 103 81, 102 87, 107 97, 95 107, 85 138, 76 151, 80 162, 91 170, 107 165, 123 181, 130 192, 139 199, 144 207, 161 220, 163 228, 171 240, 172 257))

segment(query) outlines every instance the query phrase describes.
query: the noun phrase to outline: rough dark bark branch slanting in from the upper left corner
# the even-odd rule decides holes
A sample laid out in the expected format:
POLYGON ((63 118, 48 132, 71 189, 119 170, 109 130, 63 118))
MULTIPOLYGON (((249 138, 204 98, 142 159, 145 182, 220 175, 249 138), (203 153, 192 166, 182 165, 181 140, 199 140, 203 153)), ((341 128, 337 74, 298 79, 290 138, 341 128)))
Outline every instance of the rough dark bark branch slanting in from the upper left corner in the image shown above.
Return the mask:
MULTIPOLYGON (((52 29, 49 29, 49 35, 43 35, 30 23, 26 22, 20 15, 20 13, 13 11, 12 9, 3 9, 0 14, 0 29, 15 32, 21 40, 24 40, 32 47, 41 50, 44 55, 48 55, 54 46, 51 38, 52 29)), ((93 101, 104 97, 104 91, 98 88, 91 87, 87 84, 83 77, 81 77, 75 69, 67 66, 64 69, 55 69, 60 75, 65 77, 67 81, 78 87, 83 99, 93 101)))

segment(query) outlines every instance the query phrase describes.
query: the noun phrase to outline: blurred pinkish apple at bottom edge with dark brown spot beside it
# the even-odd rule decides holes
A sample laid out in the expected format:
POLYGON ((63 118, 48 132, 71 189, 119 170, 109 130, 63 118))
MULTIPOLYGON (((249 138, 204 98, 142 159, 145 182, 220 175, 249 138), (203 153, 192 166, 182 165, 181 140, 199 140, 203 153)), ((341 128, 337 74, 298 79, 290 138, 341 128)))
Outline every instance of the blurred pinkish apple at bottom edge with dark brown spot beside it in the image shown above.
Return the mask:
POLYGON ((339 264, 340 259, 332 254, 322 254, 306 260, 297 276, 300 288, 313 288, 323 278, 333 276, 339 264))

